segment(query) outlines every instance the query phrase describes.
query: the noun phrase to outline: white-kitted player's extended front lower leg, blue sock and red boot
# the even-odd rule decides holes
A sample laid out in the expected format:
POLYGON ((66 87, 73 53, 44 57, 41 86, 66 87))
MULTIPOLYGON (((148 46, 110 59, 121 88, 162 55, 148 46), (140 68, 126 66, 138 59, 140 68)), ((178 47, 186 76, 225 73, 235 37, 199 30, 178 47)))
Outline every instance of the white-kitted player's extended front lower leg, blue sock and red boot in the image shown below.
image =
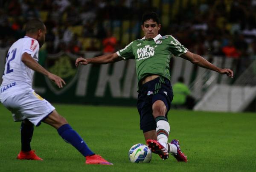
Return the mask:
POLYGON ((63 138, 63 140, 70 143, 86 158, 86 164, 112 165, 101 156, 95 155, 94 152, 89 149, 81 136, 73 130, 67 120, 60 116, 56 110, 53 110, 52 113, 43 120, 43 122, 56 128, 58 134, 63 138))

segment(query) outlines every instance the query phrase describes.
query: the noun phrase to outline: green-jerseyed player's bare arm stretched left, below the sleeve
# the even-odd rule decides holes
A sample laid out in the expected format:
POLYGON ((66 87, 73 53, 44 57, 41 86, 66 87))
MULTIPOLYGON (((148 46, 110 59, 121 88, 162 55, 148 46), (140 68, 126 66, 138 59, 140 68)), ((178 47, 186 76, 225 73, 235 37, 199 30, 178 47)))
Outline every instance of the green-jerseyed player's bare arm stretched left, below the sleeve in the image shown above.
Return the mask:
POLYGON ((87 65, 89 63, 93 64, 108 64, 113 62, 118 62, 122 60, 122 57, 119 57, 116 53, 113 54, 105 54, 102 56, 97 56, 91 59, 84 59, 83 57, 79 57, 76 59, 76 67, 79 67, 79 65, 87 65))

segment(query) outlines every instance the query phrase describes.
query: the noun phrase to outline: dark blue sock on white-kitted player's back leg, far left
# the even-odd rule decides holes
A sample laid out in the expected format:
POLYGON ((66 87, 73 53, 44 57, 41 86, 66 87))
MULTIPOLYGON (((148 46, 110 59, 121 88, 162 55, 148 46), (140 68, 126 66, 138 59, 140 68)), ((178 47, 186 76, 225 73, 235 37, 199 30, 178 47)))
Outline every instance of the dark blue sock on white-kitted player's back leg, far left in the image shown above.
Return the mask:
POLYGON ((26 125, 23 122, 21 122, 20 135, 21 135, 21 150, 22 151, 28 152, 31 150, 30 141, 32 140, 33 132, 34 132, 33 125, 26 125))

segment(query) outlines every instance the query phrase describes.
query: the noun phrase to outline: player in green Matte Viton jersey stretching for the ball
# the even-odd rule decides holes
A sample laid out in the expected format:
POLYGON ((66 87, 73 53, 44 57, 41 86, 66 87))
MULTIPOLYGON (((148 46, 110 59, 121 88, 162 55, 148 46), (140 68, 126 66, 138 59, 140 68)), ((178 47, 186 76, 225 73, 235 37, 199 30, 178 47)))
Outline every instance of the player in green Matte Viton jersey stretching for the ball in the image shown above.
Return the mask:
POLYGON ((233 77, 233 71, 218 68, 202 56, 193 54, 171 35, 158 34, 161 24, 154 12, 143 15, 141 28, 145 35, 142 39, 134 40, 113 54, 92 59, 80 57, 76 59, 76 66, 135 59, 139 93, 137 108, 140 113, 140 129, 143 130, 146 143, 162 159, 167 159, 171 153, 177 161, 186 162, 187 157, 181 152, 179 142, 176 139, 168 142, 170 125, 167 112, 173 98, 169 73, 171 55, 180 56, 193 64, 230 77, 233 77))

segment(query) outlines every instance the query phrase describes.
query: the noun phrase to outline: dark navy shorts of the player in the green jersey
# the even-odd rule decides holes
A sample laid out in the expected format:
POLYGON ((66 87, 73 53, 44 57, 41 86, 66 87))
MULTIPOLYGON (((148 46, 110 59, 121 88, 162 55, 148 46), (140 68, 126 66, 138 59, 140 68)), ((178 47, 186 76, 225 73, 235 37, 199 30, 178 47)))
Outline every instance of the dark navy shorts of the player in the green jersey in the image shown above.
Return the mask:
POLYGON ((156 130, 157 128, 152 110, 154 102, 157 100, 163 101, 168 112, 170 110, 172 99, 173 92, 171 82, 162 76, 140 86, 137 109, 140 113, 140 129, 143 130, 143 133, 156 130))

